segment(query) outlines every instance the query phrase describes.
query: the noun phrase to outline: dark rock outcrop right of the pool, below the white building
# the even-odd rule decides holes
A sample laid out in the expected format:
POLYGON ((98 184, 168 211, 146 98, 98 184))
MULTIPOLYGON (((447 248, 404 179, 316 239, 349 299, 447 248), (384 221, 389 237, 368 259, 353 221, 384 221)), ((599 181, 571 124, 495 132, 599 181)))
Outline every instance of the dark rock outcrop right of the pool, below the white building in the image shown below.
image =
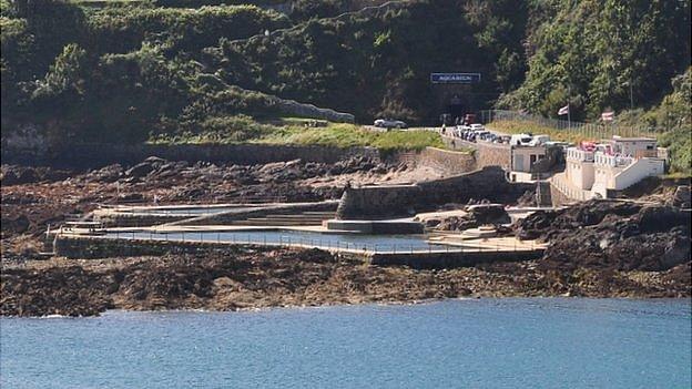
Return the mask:
POLYGON ((550 243, 541 266, 665 270, 690 260, 690 213, 672 206, 586 202, 537 212, 519 222, 519 238, 550 243))

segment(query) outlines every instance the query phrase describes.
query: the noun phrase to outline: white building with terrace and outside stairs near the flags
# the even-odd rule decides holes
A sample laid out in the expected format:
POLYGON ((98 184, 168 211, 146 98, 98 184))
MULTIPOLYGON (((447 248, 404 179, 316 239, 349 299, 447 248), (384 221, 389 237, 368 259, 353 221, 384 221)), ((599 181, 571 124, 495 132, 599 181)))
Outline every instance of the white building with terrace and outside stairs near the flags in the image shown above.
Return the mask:
POLYGON ((664 173, 657 141, 649 137, 620 137, 594 144, 582 143, 567 150, 564 177, 590 197, 607 198, 609 191, 622 191, 648 176, 664 173))

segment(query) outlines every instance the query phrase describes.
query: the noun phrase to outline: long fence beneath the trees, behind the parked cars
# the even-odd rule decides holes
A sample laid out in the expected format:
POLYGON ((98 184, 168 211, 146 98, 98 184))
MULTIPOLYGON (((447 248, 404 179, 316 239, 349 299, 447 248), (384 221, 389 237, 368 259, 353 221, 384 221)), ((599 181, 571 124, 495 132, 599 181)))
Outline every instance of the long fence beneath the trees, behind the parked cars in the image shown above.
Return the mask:
POLYGON ((498 122, 498 121, 519 121, 539 124, 545 127, 550 127, 559 131, 569 131, 574 133, 581 133, 591 139, 610 139, 613 135, 620 136, 647 136, 655 137, 665 129, 657 129, 645 125, 630 126, 620 125, 618 122, 611 123, 583 123, 574 121, 566 121, 550 117, 542 117, 539 115, 532 115, 529 113, 518 111, 506 110, 486 110, 480 112, 480 120, 484 124, 498 122))

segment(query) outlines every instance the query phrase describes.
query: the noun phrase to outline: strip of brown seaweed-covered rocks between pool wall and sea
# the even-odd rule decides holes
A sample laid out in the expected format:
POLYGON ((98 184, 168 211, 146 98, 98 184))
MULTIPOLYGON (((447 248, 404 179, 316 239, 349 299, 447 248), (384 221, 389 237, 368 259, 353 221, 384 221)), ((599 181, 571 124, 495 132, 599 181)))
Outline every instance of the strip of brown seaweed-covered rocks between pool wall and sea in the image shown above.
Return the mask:
POLYGON ((237 310, 411 303, 457 297, 690 297, 690 263, 665 272, 545 268, 539 260, 470 268, 364 264, 318 249, 230 247, 162 257, 65 259, 2 268, 0 315, 90 316, 106 309, 237 310))

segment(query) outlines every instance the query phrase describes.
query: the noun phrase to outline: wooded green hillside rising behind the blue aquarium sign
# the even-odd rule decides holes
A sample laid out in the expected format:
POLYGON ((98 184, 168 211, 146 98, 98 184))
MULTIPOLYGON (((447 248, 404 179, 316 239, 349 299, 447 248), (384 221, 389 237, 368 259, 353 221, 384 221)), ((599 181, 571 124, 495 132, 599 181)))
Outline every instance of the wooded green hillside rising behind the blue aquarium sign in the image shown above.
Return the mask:
MULTIPOLYGON (((3 136, 204 133, 281 116, 276 98, 437 124, 456 93, 468 110, 554 116, 569 100, 574 119, 639 109, 651 121, 690 66, 690 1, 238 2, 3 0, 3 136), (482 82, 432 86, 437 71, 482 82)), ((666 120, 689 134, 676 104, 666 120)))

